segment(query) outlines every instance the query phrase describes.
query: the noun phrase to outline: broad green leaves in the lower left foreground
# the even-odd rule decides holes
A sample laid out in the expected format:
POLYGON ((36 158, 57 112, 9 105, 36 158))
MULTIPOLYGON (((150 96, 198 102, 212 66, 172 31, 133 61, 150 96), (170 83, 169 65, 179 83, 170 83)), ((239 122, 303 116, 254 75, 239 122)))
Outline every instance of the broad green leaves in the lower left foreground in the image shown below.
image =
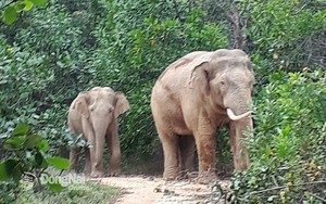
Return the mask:
MULTIPOLYGON (((49 166, 59 170, 68 168, 66 158, 50 157, 47 154, 47 140, 37 133, 33 133, 25 124, 18 124, 10 135, 2 133, 0 142, 7 151, 5 157, 0 163, 0 181, 4 181, 4 183, 1 182, 3 188, 13 184, 13 181, 17 186, 23 177, 30 177, 34 181, 34 190, 40 191, 40 177, 46 174, 49 166)), ((53 184, 47 184, 50 189, 53 189, 53 184)), ((60 186, 60 183, 57 183, 57 186, 60 186)), ((0 201, 10 200, 5 194, 2 196, 0 201)))

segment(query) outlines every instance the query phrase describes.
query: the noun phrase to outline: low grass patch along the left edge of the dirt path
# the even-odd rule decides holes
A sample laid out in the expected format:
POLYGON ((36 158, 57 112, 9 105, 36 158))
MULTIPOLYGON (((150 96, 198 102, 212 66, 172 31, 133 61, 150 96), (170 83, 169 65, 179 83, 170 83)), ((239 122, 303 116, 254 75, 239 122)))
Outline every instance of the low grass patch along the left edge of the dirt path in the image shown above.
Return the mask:
POLYGON ((20 193, 17 203, 28 204, 51 204, 51 203, 115 203, 121 191, 101 183, 87 182, 83 184, 70 184, 64 191, 53 193, 43 191, 40 193, 30 192, 30 190, 20 193))

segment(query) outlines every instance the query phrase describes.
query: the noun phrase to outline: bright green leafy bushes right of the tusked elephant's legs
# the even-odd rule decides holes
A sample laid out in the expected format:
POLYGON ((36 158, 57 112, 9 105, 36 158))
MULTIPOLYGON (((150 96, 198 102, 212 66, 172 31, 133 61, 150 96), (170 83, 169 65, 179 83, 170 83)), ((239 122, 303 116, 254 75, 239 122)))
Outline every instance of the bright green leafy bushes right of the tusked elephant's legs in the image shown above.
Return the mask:
POLYGON ((326 75, 275 73, 256 99, 252 164, 233 178, 235 203, 323 203, 326 75))

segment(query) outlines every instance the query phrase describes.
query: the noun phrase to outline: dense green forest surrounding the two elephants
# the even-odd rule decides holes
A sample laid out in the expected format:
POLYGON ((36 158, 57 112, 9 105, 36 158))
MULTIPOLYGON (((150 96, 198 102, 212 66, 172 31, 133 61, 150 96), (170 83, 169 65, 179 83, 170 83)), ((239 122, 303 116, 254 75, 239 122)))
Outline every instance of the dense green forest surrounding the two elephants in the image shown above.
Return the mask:
MULTIPOLYGON (((162 167, 154 81, 191 51, 239 48, 255 73, 254 133, 246 139, 251 166, 231 175, 230 202, 326 202, 325 0, 22 2, 0 3, 1 174, 22 156, 53 156, 57 166, 70 145, 86 145, 70 136, 66 115, 78 92, 96 86, 123 91, 130 103, 120 117, 125 171, 138 168, 128 161, 146 173, 162 167), (12 139, 30 132, 37 146, 12 139)), ((231 173, 228 138, 217 135, 217 169, 231 173)), ((0 183, 0 203, 20 193, 11 186, 15 179, 0 183)))

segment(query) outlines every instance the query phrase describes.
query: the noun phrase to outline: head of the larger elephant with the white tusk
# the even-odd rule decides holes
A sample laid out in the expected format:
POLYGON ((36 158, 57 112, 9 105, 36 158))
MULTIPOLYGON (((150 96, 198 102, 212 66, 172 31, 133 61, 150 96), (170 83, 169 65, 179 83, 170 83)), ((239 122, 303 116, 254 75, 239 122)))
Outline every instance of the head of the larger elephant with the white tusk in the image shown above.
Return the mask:
POLYGON ((254 77, 251 62, 243 51, 222 49, 208 52, 192 63, 190 86, 200 88, 213 107, 227 110, 231 120, 251 114, 249 102, 254 77))

